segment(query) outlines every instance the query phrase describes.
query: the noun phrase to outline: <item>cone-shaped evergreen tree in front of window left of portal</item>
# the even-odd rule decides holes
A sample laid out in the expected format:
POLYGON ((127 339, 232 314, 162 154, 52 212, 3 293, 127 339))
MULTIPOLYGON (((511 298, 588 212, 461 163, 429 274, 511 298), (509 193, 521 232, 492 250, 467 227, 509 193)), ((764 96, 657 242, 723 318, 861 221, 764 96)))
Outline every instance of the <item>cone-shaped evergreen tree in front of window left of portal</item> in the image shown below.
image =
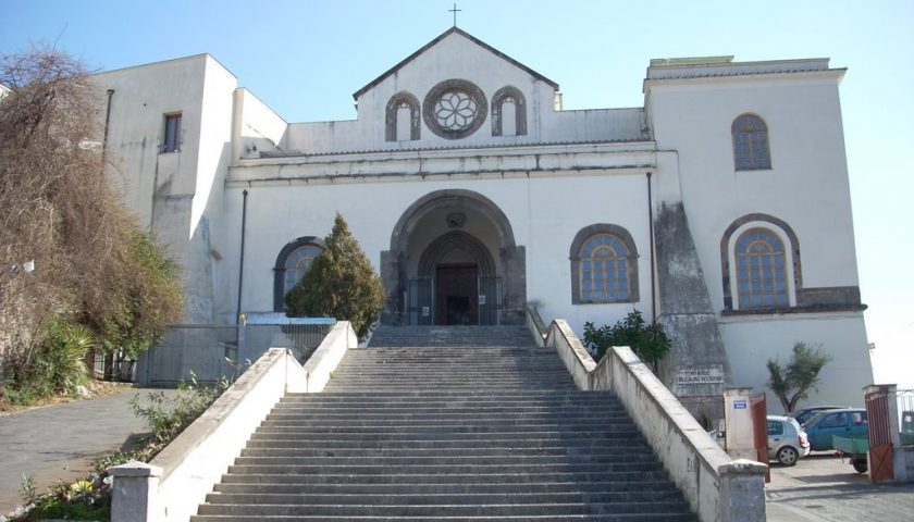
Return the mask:
POLYGON ((378 319, 385 300, 381 278, 338 213, 323 250, 285 295, 287 315, 349 321, 360 338, 378 319))

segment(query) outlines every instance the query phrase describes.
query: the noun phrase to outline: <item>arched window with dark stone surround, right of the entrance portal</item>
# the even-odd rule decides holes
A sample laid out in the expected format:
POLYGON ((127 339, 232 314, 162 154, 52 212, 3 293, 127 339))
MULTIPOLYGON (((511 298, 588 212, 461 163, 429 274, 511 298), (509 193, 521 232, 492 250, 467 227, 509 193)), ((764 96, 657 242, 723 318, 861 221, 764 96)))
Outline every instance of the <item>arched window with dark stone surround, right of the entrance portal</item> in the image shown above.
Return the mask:
POLYGON ((638 252, 625 228, 596 224, 581 229, 570 259, 575 304, 638 301, 638 252))

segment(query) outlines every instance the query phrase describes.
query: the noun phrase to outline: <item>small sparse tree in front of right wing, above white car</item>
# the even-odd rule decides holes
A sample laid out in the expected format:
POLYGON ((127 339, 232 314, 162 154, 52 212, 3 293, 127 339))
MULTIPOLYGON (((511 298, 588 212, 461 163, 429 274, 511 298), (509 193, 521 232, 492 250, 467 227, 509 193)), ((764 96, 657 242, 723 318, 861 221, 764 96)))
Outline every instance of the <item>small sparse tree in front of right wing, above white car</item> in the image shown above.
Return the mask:
POLYGON ((783 411, 795 410, 796 403, 807 398, 811 389, 817 389, 818 374, 830 360, 822 346, 808 346, 803 341, 793 345, 793 356, 787 366, 781 366, 777 359, 768 359, 768 387, 781 401, 783 411))

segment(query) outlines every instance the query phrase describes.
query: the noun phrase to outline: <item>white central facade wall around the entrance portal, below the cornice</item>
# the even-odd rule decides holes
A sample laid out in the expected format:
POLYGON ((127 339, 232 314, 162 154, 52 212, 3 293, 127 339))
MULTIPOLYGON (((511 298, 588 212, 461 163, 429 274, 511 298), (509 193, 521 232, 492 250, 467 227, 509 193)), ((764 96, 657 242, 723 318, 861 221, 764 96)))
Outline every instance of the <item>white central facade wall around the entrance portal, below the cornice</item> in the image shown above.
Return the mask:
MULTIPOLYGON (((247 236, 243 311, 268 311, 273 306, 273 266, 280 250, 300 236, 323 237, 341 212, 362 249, 379 270, 381 251, 388 250, 391 234, 406 209, 424 195, 442 189, 467 189, 490 198, 509 220, 515 240, 527 251, 528 299, 541 301, 544 319, 568 319, 576 332, 583 323, 615 323, 633 308, 650 316, 651 272, 646 176, 639 171, 604 171, 592 175, 542 175, 484 179, 430 179, 358 182, 297 186, 248 187, 247 236), (573 212, 569 210, 573 209, 573 212), (639 251, 641 300, 619 304, 571 304, 569 249, 583 227, 610 223, 625 227, 639 251)), ((242 188, 226 191, 227 248, 224 282, 237 278, 242 188)), ((441 231, 444 233, 447 231, 441 231)), ((492 231, 479 233, 497 259, 492 231)), ((437 237, 437 235, 435 235, 437 237)), ((417 236, 425 246, 434 237, 417 236)), ((417 260, 410 260, 410 265, 417 260)), ((226 302, 235 303, 237 295, 226 302)), ((234 313, 234 307, 225 310, 234 313)))

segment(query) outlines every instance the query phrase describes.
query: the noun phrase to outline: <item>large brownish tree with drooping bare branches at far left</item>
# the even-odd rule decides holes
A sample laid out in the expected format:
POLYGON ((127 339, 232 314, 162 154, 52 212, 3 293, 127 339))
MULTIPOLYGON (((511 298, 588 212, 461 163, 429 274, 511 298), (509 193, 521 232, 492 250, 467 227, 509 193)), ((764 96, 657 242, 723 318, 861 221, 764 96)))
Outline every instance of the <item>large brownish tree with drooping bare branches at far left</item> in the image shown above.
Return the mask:
POLYGON ((42 48, 0 54, 0 370, 45 375, 33 366, 73 360, 60 333, 79 325, 94 349, 150 346, 180 319, 183 291, 91 150, 101 90, 77 60, 42 48))

